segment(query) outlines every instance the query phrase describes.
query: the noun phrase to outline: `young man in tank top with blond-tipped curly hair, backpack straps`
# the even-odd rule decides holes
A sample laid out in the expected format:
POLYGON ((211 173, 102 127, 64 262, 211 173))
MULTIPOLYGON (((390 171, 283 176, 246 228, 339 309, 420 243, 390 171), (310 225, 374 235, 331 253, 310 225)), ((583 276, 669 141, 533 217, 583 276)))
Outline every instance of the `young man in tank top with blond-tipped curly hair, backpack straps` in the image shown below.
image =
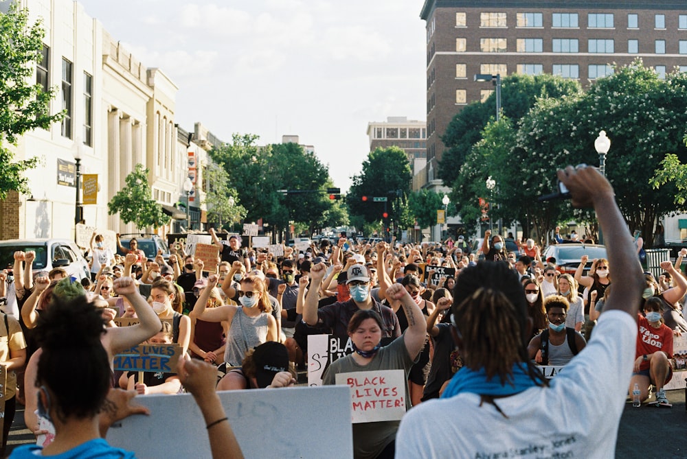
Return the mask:
POLYGON ((587 342, 574 328, 565 326, 570 304, 563 296, 551 295, 544 300, 548 329, 532 338, 527 346, 530 359, 540 365, 567 365, 582 351, 587 342))

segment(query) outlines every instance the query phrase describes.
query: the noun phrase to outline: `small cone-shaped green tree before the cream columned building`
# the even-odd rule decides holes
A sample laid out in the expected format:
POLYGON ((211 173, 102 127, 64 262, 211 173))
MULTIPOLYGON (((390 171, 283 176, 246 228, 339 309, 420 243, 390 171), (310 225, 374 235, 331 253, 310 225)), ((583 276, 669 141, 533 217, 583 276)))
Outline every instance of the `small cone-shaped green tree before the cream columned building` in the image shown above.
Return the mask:
POLYGON ((137 228, 153 226, 159 228, 171 220, 165 215, 162 206, 153 199, 153 190, 148 184, 150 171, 137 164, 133 172, 126 176, 126 187, 117 191, 112 200, 107 203, 110 215, 117 212, 124 223, 133 222, 137 228))

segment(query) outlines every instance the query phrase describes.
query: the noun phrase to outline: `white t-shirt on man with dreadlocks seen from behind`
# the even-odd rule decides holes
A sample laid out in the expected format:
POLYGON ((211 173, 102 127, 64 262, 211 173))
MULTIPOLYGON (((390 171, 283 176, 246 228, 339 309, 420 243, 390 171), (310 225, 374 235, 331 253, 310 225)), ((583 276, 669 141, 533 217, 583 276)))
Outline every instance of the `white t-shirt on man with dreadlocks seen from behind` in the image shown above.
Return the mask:
POLYGON ((633 316, 605 311, 592 340, 548 388, 495 399, 507 419, 490 403, 480 406, 473 393, 409 410, 396 435, 396 459, 613 458, 636 339, 633 316))

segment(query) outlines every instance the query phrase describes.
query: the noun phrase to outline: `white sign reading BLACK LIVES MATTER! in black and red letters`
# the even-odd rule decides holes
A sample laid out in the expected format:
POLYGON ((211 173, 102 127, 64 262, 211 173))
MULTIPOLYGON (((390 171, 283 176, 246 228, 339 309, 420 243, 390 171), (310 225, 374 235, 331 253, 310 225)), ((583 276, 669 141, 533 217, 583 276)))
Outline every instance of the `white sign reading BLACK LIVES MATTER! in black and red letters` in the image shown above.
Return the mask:
POLYGON ((355 371, 335 375, 350 387, 351 422, 400 421, 405 414, 403 370, 355 371))

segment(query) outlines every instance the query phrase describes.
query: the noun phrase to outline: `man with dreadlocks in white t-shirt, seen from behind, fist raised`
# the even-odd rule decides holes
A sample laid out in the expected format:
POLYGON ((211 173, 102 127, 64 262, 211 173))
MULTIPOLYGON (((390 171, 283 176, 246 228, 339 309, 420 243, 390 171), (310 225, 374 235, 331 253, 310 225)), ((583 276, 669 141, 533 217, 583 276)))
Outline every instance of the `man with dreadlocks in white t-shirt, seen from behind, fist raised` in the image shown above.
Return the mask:
POLYGON ((646 282, 608 181, 586 166, 568 166, 558 178, 574 207, 596 211, 618 270, 592 340, 546 381, 526 353, 532 320, 515 272, 505 263, 464 269, 451 308, 464 366, 441 399, 405 414, 396 458, 615 456, 646 282))

